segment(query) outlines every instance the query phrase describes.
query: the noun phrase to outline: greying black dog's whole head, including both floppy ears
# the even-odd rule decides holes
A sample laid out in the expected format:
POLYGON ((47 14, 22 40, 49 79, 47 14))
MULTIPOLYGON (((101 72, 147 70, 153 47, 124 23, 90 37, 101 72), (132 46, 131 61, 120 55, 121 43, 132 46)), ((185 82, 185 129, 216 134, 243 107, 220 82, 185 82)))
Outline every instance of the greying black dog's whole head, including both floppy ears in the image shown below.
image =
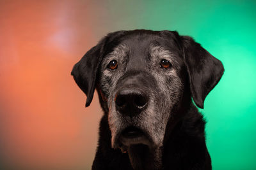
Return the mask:
MULTIPOLYGON (((163 145, 166 125, 182 108, 199 108, 218 83, 223 65, 189 36, 176 31, 108 34, 77 62, 72 75, 87 96, 95 88, 108 115, 114 148, 163 145)), ((181 113, 179 113, 181 114, 181 113)))

